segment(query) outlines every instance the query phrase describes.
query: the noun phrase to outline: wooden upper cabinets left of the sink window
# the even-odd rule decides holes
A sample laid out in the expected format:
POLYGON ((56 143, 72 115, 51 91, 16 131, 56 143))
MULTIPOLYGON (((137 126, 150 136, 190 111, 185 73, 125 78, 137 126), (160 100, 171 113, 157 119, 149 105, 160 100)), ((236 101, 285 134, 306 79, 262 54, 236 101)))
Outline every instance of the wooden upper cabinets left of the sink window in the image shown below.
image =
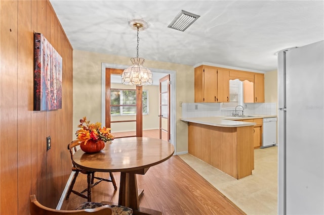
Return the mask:
POLYGON ((228 102, 229 70, 201 65, 194 69, 194 102, 228 102))

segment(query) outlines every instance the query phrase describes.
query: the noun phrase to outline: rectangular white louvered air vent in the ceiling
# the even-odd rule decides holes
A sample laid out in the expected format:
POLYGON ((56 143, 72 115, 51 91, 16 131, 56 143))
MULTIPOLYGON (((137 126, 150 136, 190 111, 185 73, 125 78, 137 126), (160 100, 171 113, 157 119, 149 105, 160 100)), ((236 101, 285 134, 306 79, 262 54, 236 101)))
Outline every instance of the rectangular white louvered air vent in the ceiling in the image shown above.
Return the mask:
POLYGON ((199 17, 198 15, 181 10, 168 27, 179 31, 185 31, 199 17))

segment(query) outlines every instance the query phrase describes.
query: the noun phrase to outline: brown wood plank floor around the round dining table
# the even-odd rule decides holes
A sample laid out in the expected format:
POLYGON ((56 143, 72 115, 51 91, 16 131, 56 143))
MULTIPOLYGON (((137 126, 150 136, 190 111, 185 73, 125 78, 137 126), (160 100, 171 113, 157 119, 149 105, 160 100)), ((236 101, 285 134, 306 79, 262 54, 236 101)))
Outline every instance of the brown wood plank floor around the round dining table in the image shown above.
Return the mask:
MULTIPOLYGON (((119 173, 113 173, 119 187, 119 173)), ((107 173, 97 173, 108 177, 107 173)), ((162 211, 163 214, 245 214, 231 201, 198 175, 179 156, 151 167, 145 175, 137 175, 138 188, 144 189, 140 206, 162 211)), ((87 186, 84 175, 78 176, 75 188, 87 186)), ((93 201, 118 202, 118 191, 108 182, 92 189, 93 201)), ((61 209, 74 209, 86 199, 70 195, 61 209)))

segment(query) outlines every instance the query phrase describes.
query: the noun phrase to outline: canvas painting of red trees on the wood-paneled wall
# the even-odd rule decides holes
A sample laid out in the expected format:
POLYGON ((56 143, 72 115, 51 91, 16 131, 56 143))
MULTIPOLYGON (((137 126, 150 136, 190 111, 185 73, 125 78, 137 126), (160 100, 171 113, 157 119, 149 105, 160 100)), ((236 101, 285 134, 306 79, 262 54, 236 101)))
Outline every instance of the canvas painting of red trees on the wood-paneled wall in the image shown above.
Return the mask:
POLYGON ((34 111, 62 109, 62 57, 35 33, 34 111))

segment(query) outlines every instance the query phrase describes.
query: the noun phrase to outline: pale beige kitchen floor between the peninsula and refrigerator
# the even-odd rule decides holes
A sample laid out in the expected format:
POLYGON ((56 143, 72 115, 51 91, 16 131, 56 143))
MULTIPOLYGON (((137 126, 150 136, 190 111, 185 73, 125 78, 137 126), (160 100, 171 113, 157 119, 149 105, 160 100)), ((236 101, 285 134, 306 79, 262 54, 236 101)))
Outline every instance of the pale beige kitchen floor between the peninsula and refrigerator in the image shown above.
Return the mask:
MULTIPOLYGON (((158 130, 143 131, 143 135, 158 138, 158 130)), ((255 169, 252 175, 240 180, 190 154, 179 157, 245 213, 277 214, 278 147, 255 149, 254 154, 255 169)))

